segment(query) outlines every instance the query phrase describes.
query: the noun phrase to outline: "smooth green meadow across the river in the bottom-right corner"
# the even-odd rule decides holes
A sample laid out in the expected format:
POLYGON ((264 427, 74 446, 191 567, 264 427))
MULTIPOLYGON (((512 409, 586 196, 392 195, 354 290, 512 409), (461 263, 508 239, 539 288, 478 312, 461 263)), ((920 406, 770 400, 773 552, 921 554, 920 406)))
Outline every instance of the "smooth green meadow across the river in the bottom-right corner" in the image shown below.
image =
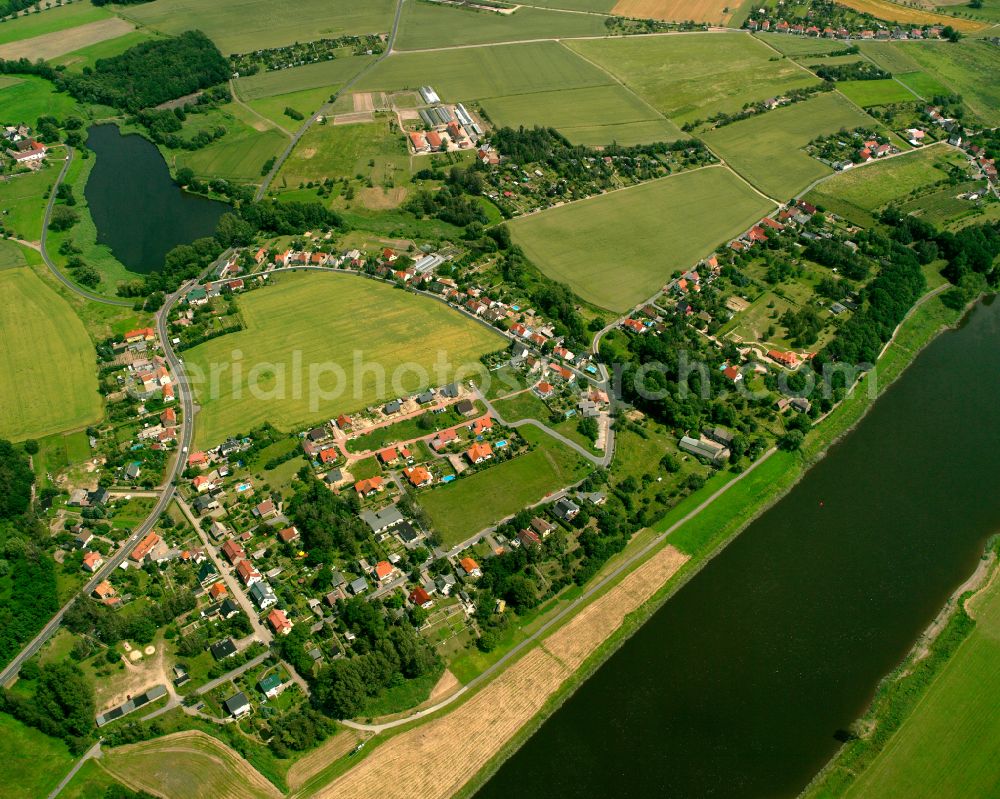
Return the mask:
POLYGON ((970 607, 976 626, 850 799, 987 797, 1000 791, 1000 581, 970 607))

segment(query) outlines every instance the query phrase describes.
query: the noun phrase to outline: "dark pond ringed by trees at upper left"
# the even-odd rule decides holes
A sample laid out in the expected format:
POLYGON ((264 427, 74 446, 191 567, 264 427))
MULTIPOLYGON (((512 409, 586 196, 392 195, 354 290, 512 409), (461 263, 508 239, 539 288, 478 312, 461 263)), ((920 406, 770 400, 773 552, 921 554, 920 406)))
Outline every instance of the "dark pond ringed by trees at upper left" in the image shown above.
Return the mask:
POLYGON ((132 272, 163 266, 178 244, 211 236, 229 206, 178 188, 160 151, 115 125, 90 128, 87 146, 97 155, 84 194, 97 241, 132 272))

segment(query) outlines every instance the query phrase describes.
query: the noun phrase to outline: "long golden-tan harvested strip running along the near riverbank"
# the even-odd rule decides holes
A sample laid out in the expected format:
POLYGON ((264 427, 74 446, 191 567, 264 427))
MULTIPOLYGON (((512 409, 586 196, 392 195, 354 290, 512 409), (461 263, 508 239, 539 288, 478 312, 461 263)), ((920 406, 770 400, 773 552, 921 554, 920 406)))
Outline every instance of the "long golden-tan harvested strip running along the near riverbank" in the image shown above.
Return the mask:
POLYGON ((665 547, 453 712, 382 744, 315 796, 447 799, 544 706, 597 647, 687 560, 665 547), (579 621, 578 621, 579 620, 579 621), (556 653, 554 656, 550 653, 556 653), (457 769, 456 763, 462 768, 457 769), (387 780, 386 774, 393 779, 387 780))

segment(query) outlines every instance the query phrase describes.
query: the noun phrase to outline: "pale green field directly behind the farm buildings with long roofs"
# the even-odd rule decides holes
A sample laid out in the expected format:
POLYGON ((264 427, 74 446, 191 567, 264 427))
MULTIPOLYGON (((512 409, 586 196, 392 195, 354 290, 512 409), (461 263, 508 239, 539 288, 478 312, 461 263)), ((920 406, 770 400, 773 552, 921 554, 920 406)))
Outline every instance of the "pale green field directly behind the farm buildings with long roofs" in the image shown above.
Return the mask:
POLYGON ((556 42, 400 53, 361 77, 360 90, 430 84, 445 102, 600 86, 614 81, 556 42))

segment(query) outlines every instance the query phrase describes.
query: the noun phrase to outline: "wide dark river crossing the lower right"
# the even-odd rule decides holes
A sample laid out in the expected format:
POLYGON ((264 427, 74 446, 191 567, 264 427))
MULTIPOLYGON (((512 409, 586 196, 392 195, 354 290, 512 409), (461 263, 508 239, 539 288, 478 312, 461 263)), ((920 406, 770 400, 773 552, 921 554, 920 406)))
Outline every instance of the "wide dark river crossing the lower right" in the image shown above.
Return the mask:
POLYGON ((1000 530, 998 397, 1000 301, 987 301, 478 799, 797 795, 1000 530))

